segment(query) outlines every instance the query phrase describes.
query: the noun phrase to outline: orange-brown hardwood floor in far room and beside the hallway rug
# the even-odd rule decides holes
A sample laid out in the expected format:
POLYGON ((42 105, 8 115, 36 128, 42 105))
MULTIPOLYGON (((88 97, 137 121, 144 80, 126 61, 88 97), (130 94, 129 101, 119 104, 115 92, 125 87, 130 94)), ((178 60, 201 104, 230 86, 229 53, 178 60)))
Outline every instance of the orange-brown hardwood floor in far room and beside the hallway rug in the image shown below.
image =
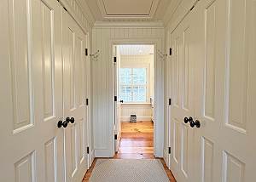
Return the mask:
MULTIPOLYGON (((115 159, 155 159, 154 157, 154 124, 153 122, 122 122, 119 151, 113 156, 115 159)), ((89 181, 96 164, 92 163, 85 173, 83 182, 89 181)), ((160 158, 170 181, 176 182, 166 162, 160 158)))

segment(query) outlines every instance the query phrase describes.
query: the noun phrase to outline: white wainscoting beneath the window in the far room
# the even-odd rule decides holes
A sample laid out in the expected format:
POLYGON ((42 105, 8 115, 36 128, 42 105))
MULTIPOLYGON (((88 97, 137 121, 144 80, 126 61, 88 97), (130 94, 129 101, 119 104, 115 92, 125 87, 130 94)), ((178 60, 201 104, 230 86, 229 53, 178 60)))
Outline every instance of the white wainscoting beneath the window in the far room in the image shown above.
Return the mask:
POLYGON ((130 122, 131 114, 137 115, 137 121, 151 121, 151 104, 122 104, 121 122, 130 122))

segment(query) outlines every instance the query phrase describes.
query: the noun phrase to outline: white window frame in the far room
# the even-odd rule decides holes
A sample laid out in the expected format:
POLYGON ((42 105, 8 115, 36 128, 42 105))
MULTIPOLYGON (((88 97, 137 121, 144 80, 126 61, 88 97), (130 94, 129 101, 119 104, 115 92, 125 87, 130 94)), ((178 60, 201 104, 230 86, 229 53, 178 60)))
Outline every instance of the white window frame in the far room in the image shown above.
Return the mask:
MULTIPOLYGON (((144 103, 149 103, 150 102, 150 64, 140 64, 140 65, 122 65, 120 68, 146 68, 146 101, 145 102, 137 102, 137 101, 131 101, 131 102, 124 102, 124 104, 144 104, 144 103)), ((131 77, 132 79, 132 77, 131 77)), ((120 82, 119 82, 119 90, 121 88, 121 86, 131 86, 131 88, 133 88, 134 86, 140 86, 140 85, 122 85, 120 82)), ((142 85, 144 86, 144 85, 142 85)), ((132 89, 131 89, 132 90, 132 89)))

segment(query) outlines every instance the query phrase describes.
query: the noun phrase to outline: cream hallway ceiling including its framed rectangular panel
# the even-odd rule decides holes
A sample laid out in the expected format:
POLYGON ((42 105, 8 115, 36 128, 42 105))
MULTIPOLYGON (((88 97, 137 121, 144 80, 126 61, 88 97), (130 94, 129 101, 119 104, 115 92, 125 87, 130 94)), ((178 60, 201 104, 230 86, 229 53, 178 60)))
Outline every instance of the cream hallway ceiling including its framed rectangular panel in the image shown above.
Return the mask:
POLYGON ((84 0, 96 21, 163 20, 172 0, 84 0))

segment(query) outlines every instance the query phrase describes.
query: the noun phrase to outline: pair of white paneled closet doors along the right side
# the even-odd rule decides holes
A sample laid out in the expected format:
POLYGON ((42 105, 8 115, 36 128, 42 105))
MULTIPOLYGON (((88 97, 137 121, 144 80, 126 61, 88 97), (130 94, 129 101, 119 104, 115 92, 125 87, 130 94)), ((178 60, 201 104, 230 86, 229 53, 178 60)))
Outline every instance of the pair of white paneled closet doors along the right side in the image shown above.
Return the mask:
POLYGON ((172 32, 172 48, 177 181, 254 181, 256 1, 199 1, 172 32))

